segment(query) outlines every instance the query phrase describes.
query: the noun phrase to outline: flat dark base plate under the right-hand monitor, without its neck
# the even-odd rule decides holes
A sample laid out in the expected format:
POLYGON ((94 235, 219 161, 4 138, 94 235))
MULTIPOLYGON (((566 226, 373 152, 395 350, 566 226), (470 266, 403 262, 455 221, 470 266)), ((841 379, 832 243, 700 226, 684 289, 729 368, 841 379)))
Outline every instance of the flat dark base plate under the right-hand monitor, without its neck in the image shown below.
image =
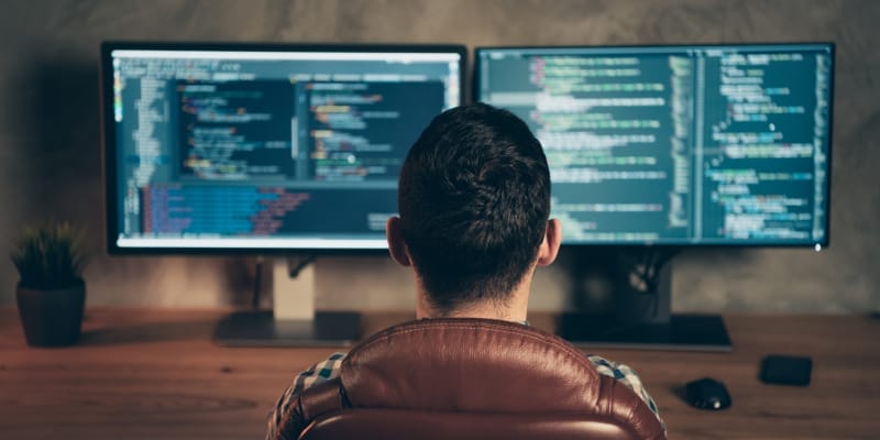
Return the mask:
POLYGON ((638 350, 729 352, 733 350, 724 320, 717 315, 672 315, 669 322, 615 322, 613 317, 563 314, 557 334, 578 346, 638 350))

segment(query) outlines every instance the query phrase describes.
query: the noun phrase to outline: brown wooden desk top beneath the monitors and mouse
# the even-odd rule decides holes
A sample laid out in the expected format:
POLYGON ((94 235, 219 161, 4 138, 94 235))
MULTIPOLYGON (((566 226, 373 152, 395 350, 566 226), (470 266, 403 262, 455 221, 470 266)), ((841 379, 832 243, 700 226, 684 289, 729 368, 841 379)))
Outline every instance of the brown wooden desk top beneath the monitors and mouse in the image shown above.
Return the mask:
MULTIPOLYGON (((261 439, 294 375, 336 350, 226 349, 210 334, 223 311, 89 309, 81 344, 29 349, 13 308, 0 308, 0 438, 261 439)), ((548 317, 531 316, 538 327, 548 317)), ((405 315, 367 317, 377 329, 405 315)), ((671 439, 877 439, 880 320, 725 318, 733 353, 597 351, 641 375, 671 439), (758 378, 768 353, 814 360, 806 388, 758 378), (724 381, 734 405, 691 408, 675 389, 724 381)))

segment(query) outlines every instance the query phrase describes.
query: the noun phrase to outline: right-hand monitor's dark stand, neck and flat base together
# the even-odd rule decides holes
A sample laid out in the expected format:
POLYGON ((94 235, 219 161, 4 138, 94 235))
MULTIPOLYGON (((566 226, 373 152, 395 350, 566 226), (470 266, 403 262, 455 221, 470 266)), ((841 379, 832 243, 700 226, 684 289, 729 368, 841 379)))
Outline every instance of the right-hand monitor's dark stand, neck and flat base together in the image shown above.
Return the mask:
POLYGON ((557 333, 584 348, 732 351, 721 316, 671 314, 671 264, 666 264, 653 293, 618 288, 613 314, 562 314, 557 333))

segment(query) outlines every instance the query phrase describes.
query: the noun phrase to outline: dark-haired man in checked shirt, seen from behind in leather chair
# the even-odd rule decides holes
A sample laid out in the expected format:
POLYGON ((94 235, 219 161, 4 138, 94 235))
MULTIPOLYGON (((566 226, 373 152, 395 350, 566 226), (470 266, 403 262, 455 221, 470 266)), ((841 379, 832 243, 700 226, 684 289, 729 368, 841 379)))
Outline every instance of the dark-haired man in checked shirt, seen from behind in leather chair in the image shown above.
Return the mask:
MULTIPOLYGON (((550 217, 550 172, 541 144, 513 113, 476 103, 435 118, 400 173, 400 217, 385 231, 392 258, 416 275, 416 316, 526 322, 535 270, 561 242, 550 217)), ((279 437, 305 388, 336 377, 344 354, 300 373, 270 419, 279 437)), ((636 373, 588 356, 601 374, 632 388, 657 414, 636 373)), ((658 416, 659 418, 659 416, 658 416)))

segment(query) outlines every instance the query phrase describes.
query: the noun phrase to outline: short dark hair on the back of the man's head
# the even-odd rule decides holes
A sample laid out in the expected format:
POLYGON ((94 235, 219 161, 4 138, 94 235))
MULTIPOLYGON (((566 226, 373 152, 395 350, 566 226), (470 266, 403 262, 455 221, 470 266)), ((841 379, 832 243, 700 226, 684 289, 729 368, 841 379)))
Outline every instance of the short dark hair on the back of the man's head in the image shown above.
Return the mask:
POLYGON ((547 157, 509 111, 484 103, 447 110, 410 148, 398 205, 404 242, 439 314, 505 301, 547 230, 547 157))

